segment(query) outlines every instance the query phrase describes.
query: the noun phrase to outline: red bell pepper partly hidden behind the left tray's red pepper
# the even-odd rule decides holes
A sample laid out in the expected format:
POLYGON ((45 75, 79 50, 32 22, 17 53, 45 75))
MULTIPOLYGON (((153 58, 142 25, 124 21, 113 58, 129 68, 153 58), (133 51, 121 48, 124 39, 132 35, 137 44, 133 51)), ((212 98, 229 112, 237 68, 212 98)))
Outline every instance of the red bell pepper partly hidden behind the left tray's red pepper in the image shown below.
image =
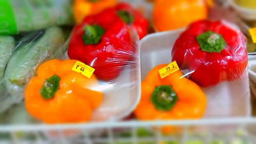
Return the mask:
POLYGON ((138 33, 139 39, 146 36, 148 22, 139 11, 126 3, 119 3, 115 9, 122 19, 138 33))

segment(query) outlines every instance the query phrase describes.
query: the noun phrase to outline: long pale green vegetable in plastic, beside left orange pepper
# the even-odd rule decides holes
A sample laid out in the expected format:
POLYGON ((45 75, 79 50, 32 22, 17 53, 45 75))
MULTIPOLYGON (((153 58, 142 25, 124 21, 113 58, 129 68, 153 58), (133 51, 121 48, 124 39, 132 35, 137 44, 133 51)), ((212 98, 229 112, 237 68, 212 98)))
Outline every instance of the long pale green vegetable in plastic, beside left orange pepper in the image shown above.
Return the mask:
MULTIPOLYGON (((12 84, 24 85, 41 61, 57 51, 65 42, 63 32, 59 27, 51 27, 35 43, 21 47, 14 51, 5 74, 12 84)), ((8 87, 7 87, 8 89, 8 87)))

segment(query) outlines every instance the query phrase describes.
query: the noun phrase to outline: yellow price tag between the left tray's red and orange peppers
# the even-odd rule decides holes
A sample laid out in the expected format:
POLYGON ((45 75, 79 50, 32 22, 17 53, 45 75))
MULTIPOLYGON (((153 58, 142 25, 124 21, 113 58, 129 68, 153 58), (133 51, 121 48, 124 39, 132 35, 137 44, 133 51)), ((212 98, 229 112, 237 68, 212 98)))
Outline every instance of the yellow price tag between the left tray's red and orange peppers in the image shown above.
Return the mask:
POLYGON ((94 68, 92 68, 84 63, 78 62, 78 61, 75 63, 75 65, 73 66, 73 68, 71 70, 81 73, 82 75, 84 75, 88 78, 91 78, 93 72, 95 71, 94 68))

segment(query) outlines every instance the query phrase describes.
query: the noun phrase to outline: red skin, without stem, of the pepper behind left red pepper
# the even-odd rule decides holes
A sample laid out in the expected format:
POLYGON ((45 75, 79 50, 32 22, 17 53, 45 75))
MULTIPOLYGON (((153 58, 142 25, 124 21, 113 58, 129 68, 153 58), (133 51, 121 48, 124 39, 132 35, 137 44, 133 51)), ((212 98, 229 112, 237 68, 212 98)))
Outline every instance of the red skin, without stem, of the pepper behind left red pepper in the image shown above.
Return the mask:
POLYGON ((131 5, 126 3, 119 3, 115 9, 117 11, 129 12, 134 17, 134 21, 132 22, 131 27, 134 28, 134 30, 137 32, 139 39, 142 39, 146 36, 148 21, 139 11, 135 10, 131 5))

